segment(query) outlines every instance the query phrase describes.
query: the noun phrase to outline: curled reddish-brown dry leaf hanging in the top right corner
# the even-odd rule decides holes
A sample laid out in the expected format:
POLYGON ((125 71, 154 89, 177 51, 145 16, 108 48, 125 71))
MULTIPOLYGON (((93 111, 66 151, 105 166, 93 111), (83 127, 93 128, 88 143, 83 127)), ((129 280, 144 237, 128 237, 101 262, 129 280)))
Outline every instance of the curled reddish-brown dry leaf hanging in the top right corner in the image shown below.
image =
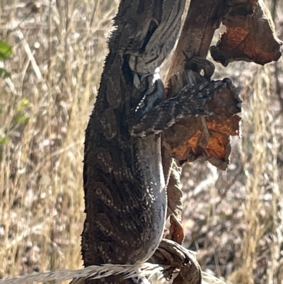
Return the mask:
POLYGON ((244 60, 264 65, 281 56, 282 41, 275 35, 272 17, 262 0, 232 1, 222 23, 226 33, 210 48, 216 62, 227 66, 244 60))

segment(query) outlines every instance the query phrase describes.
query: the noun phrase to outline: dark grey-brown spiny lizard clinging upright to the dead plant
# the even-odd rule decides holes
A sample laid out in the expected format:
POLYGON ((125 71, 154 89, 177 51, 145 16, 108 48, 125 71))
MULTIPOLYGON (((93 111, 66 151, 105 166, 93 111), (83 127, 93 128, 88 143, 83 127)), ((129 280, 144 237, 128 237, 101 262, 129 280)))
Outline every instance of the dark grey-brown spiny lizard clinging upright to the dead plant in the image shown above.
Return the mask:
MULTIPOLYGON (((176 4, 183 9, 185 0, 122 0, 115 18, 117 28, 110 38, 110 53, 86 129, 84 266, 142 263, 154 254, 167 207, 158 133, 183 117, 207 114, 203 104, 223 85, 217 81, 192 93, 187 88, 162 101, 162 82, 154 81, 151 74, 177 37, 183 10, 175 13, 176 4), (166 33, 158 30, 160 25, 166 33), (137 85, 134 76, 139 76, 137 85)), ((122 276, 86 281, 148 283, 122 276)))

